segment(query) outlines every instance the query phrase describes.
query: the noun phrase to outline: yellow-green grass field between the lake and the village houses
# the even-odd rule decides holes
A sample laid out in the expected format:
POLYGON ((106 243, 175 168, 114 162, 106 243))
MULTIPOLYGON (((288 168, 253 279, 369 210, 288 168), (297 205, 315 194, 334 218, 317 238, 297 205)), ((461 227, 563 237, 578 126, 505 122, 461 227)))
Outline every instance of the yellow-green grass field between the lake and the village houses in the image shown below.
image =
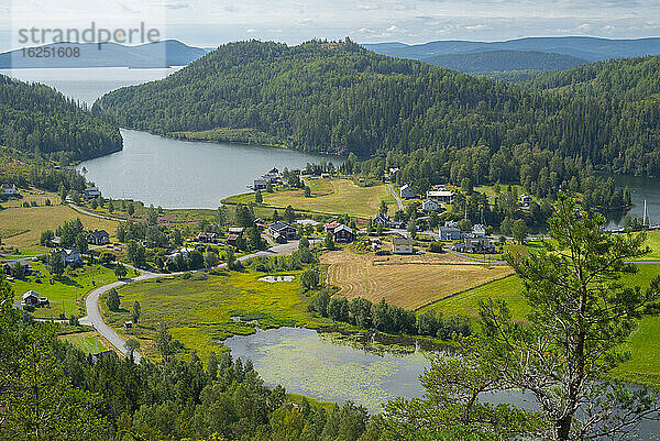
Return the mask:
MULTIPOLYGON (((361 187, 350 179, 307 179, 311 197, 306 198, 304 190, 280 190, 263 194, 264 205, 273 208, 292 206, 297 210, 323 214, 350 214, 358 218, 371 218, 378 212, 381 200, 392 203, 392 195, 386 185, 361 187)), ((228 203, 249 203, 254 194, 232 196, 228 203)))

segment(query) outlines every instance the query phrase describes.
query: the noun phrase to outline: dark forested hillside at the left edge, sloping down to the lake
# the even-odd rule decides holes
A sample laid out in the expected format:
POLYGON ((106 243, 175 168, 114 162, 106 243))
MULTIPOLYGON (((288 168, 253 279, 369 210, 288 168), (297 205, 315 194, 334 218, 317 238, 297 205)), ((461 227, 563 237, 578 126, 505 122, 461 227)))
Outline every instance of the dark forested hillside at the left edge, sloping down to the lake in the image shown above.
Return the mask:
POLYGON ((0 75, 0 145, 85 159, 122 147, 119 129, 56 90, 0 75))

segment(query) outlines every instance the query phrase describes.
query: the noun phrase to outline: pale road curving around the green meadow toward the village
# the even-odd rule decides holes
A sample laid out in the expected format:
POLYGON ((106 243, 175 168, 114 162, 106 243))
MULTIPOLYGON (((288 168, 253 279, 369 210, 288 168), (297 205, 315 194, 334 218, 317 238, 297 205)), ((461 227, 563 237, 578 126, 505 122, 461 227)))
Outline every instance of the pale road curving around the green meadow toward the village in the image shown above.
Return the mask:
MULTIPOLYGON (((311 244, 316 244, 319 242, 321 242, 320 239, 310 240, 311 244)), ((256 256, 286 255, 286 254, 290 254, 294 251, 296 251, 297 247, 298 247, 297 241, 288 242, 288 243, 275 245, 265 251, 258 251, 256 253, 244 255, 242 257, 239 257, 239 261, 243 262, 249 258, 256 257, 256 256)), ((130 265, 124 265, 124 266, 135 269, 134 267, 132 267, 130 265)), ((226 263, 216 266, 216 268, 222 268, 224 266, 227 266, 226 263)), ((205 268, 205 269, 210 269, 210 268, 205 268)), ((197 271, 193 271, 190 273, 197 273, 197 272, 205 271, 205 269, 197 269, 197 271)), ((99 286, 98 288, 95 288, 91 293, 89 293, 89 295, 87 296, 87 299, 85 300, 85 306, 87 307, 87 316, 80 319, 80 323, 94 327, 94 329, 96 329, 101 335, 103 335, 103 338, 106 338, 110 343, 112 343, 112 345, 114 348, 117 348, 125 356, 129 355, 129 349, 127 348, 127 342, 117 332, 114 332, 112 330, 112 328, 110 328, 103 321, 103 318, 101 317, 101 311, 99 308, 99 297, 112 288, 117 288, 122 285, 130 284, 132 282, 150 280, 150 279, 154 279, 154 278, 170 277, 170 276, 176 276, 176 275, 183 274, 183 272, 156 274, 156 273, 150 273, 150 272, 141 271, 141 269, 139 269, 139 271, 141 272, 141 274, 138 277, 117 280, 117 282, 113 282, 108 285, 99 286)), ((140 360, 142 360, 142 355, 140 355, 140 353, 138 351, 135 351, 135 352, 133 352, 133 360, 135 363, 140 363, 140 360)))

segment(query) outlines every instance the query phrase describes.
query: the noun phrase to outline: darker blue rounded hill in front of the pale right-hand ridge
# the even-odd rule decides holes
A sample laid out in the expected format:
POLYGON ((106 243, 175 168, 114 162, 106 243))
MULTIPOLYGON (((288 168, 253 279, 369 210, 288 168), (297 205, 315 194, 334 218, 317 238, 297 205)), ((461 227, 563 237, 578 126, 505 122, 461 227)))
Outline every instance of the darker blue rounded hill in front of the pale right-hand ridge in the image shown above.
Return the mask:
POLYGON ((475 54, 436 55, 425 63, 464 73, 493 73, 510 70, 565 70, 587 64, 571 55, 537 51, 492 51, 475 54))

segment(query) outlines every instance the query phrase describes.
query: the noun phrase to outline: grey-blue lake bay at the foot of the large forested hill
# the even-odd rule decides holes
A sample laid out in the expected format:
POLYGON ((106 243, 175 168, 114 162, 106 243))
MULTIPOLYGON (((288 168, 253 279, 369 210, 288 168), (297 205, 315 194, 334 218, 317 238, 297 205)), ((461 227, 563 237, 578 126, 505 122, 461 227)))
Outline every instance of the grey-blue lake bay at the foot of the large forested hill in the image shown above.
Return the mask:
POLYGON ((220 200, 245 192, 273 167, 304 168, 322 157, 285 148, 170 140, 122 130, 121 152, 86 161, 87 180, 106 197, 130 198, 164 208, 218 208, 220 200))

